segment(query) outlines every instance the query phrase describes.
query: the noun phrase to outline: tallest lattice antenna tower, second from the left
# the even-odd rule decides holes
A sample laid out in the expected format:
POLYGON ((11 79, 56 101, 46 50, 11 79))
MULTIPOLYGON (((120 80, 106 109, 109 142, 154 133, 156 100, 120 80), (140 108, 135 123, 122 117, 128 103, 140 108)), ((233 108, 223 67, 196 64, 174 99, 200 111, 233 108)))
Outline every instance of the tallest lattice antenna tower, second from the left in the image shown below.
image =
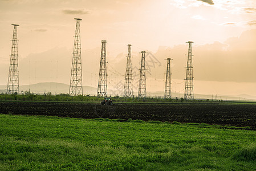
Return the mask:
POLYGON ((81 41, 80 41, 80 18, 74 18, 76 20, 76 32, 73 50, 73 59, 71 67, 70 78, 70 96, 83 95, 82 84, 82 56, 81 56, 81 41))

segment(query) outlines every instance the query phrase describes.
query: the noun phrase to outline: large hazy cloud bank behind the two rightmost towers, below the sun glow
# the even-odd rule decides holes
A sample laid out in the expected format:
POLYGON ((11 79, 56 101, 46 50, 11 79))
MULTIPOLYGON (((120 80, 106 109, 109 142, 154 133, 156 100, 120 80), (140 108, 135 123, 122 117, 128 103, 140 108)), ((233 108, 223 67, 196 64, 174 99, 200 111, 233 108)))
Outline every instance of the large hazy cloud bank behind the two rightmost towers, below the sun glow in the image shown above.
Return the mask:
MULTIPOLYGON (((256 29, 243 32, 238 38, 230 38, 224 43, 192 45, 193 70, 195 80, 218 82, 248 82, 256 83, 255 43, 256 29), (239 70, 238 70, 239 68, 239 70)), ((186 64, 185 53, 188 44, 177 45, 159 49, 154 55, 159 61, 164 61, 164 56, 172 56, 173 79, 184 79, 186 64), (182 57, 184 56, 184 57, 182 57), (180 58, 183 58, 182 60, 180 58)), ((164 67, 157 68, 157 79, 165 73, 164 67)))

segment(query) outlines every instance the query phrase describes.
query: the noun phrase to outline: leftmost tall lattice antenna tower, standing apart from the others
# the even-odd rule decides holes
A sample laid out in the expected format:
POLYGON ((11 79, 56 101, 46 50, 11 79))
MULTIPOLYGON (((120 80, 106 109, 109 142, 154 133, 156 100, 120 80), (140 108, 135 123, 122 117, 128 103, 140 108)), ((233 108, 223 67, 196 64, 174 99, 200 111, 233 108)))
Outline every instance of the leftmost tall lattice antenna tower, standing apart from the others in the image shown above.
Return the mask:
POLYGON ((18 68, 18 39, 17 39, 17 26, 13 29, 13 40, 11 44, 10 67, 7 83, 7 94, 19 93, 19 68, 18 68))

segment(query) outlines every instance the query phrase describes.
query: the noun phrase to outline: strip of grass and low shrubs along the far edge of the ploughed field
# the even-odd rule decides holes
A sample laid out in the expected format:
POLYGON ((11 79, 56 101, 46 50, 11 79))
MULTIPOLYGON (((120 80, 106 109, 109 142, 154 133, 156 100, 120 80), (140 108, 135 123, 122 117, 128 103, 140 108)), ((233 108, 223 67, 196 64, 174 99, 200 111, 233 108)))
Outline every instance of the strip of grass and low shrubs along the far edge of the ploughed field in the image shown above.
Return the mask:
MULTIPOLYGON (((119 97, 112 96, 111 99, 113 103, 230 103, 230 104, 256 104, 256 101, 223 101, 223 100, 184 100, 182 97, 180 99, 164 99, 160 97, 147 97, 146 99, 133 97, 119 97)), ((85 102, 85 103, 100 103, 103 100, 103 97, 96 96, 87 96, 87 95, 79 95, 79 96, 69 96, 65 93, 60 94, 51 94, 51 92, 47 92, 44 95, 39 95, 36 93, 32 93, 30 91, 22 92, 22 94, 18 94, 15 92, 14 94, 7 95, 4 93, 0 93, 0 101, 62 101, 62 102, 85 102)))

